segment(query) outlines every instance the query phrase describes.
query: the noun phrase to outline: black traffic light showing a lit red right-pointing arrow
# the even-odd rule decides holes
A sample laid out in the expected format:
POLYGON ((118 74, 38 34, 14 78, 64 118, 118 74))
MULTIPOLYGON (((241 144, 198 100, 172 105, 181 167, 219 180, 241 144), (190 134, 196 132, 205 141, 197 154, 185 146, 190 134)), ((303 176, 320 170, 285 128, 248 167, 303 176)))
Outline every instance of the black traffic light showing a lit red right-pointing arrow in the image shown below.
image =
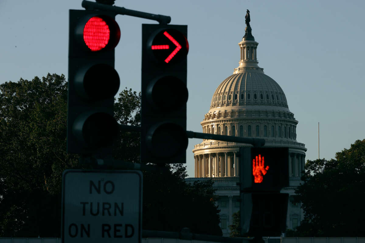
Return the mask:
POLYGON ((188 50, 186 25, 142 24, 142 162, 186 162, 188 50))

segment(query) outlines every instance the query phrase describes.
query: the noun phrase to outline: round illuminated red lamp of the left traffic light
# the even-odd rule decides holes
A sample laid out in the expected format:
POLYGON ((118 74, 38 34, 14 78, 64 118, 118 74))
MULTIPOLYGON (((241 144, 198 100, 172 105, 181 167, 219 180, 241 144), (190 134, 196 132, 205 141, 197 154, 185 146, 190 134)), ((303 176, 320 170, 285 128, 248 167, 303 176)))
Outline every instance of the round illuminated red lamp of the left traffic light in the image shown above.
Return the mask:
POLYGON ((92 17, 84 27, 85 44, 92 51, 100 51, 109 42, 110 30, 107 22, 101 17, 92 17))

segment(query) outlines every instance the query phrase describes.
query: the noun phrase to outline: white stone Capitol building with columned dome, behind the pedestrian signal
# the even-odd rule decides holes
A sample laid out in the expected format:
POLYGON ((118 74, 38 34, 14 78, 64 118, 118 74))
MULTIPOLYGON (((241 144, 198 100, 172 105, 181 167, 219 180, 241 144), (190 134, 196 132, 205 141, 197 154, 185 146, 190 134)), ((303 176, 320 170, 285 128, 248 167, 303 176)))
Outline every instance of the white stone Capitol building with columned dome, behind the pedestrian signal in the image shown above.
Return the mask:
MULTIPOLYGON (((295 228, 303 219, 300 205, 291 203, 295 188, 300 183, 304 169, 304 144, 297 142, 298 121, 289 111, 287 99, 281 87, 258 66, 257 46, 246 27, 239 45, 239 66, 233 75, 224 79, 213 94, 210 110, 200 122, 203 133, 238 137, 264 138, 265 147, 289 149, 289 193, 287 227, 295 228)), ((195 177, 187 181, 214 180, 219 195, 223 236, 228 236, 232 214, 239 210, 239 164, 236 153, 248 144, 203 140, 194 146, 195 177), (205 179, 206 178, 206 179, 205 179)))

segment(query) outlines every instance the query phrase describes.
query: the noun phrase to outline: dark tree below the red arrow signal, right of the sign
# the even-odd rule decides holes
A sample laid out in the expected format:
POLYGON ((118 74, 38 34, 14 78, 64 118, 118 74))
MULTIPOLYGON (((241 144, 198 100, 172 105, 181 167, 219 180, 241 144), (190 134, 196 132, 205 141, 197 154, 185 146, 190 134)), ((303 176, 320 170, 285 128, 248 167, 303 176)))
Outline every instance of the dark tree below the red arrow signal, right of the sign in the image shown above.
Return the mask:
POLYGON ((143 173, 143 229, 222 235, 213 181, 186 184, 186 166, 166 166, 173 173, 143 173))

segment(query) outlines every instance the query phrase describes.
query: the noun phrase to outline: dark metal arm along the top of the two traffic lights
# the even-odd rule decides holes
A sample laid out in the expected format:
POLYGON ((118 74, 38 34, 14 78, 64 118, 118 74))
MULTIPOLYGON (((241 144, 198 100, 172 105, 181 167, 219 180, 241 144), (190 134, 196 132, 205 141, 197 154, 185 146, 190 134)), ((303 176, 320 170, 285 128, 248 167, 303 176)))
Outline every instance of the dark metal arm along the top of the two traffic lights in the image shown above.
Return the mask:
POLYGON ((126 9, 124 7, 110 6, 110 5, 95 3, 95 2, 86 1, 86 0, 82 1, 81 6, 83 8, 85 8, 86 10, 110 11, 110 12, 115 12, 116 15, 117 14, 129 15, 129 16, 139 17, 139 18, 143 18, 143 19, 156 20, 160 24, 168 24, 171 22, 170 16, 140 12, 140 11, 135 11, 135 10, 131 10, 131 9, 126 9))

